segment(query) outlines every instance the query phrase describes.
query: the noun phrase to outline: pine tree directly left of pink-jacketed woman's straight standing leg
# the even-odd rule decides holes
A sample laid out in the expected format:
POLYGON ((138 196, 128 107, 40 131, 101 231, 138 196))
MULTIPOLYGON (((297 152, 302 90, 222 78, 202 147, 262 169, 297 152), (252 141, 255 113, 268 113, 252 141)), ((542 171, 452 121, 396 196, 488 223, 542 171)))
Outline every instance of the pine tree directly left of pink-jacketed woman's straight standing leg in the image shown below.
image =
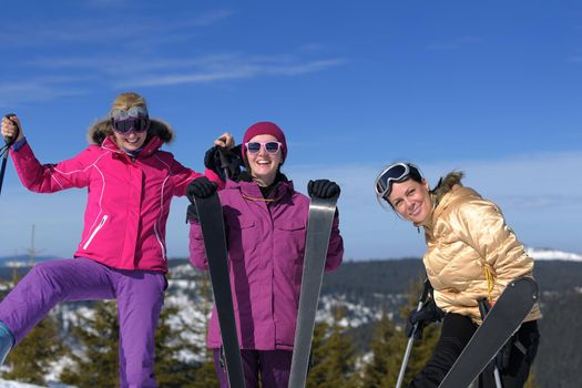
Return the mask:
POLYGON ((76 313, 79 324, 72 328, 81 351, 71 353, 73 365, 63 369, 62 382, 79 388, 116 387, 119 385, 119 323, 114 300, 95 303, 92 314, 76 313))

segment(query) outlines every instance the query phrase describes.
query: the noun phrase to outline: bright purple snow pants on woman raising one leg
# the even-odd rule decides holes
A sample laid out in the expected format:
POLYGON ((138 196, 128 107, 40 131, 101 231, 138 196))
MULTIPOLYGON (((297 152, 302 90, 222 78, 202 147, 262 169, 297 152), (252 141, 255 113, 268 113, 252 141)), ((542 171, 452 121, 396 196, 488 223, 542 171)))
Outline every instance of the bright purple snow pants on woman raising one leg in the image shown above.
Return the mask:
POLYGON ((37 264, 0 303, 17 344, 60 302, 118 299, 120 387, 156 387, 154 335, 166 280, 153 270, 115 269, 88 258, 37 264))

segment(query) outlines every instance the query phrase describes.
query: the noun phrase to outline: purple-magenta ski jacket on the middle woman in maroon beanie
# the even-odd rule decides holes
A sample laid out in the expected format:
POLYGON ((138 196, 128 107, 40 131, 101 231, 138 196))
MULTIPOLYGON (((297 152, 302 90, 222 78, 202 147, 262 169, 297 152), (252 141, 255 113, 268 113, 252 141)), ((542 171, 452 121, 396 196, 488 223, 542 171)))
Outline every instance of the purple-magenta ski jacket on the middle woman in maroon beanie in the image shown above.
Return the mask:
MULTIPOLYGON (((263 201, 254 182, 227 181, 218 193, 228 245, 231 287, 238 340, 243 349, 292 350, 302 284, 309 198, 290 182, 280 182, 263 201)), ((191 224, 191 262, 207 268, 202 231, 191 224)), ((344 255, 338 217, 334 219, 326 269, 337 268, 344 255)), ((216 308, 207 345, 222 345, 216 308)))

